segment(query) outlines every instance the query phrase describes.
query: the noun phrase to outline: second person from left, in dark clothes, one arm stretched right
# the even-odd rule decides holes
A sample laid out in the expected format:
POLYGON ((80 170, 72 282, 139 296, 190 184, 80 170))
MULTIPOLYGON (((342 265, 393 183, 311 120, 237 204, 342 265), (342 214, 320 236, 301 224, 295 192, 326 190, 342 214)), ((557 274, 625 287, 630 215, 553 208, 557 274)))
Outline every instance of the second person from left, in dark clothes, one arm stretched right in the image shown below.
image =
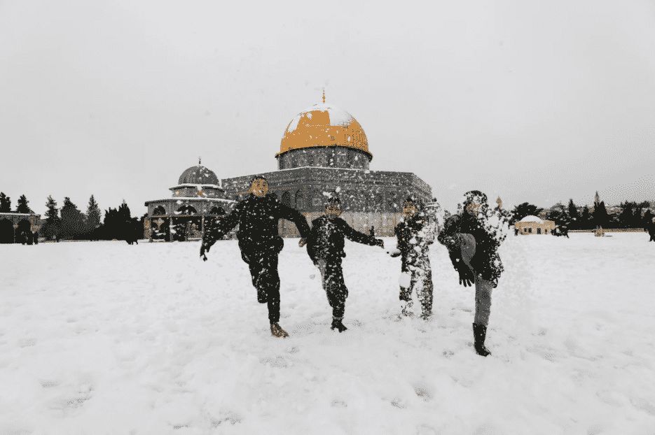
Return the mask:
POLYGON ((345 299, 348 289, 343 280, 341 261, 345 257, 344 239, 363 243, 364 245, 384 248, 385 243, 373 234, 364 234, 356 231, 341 219, 341 200, 330 197, 325 205, 325 214, 312 220, 312 231, 307 241, 307 253, 312 262, 321 272, 323 290, 332 307, 332 327, 343 332, 347 329, 343 325, 345 299))

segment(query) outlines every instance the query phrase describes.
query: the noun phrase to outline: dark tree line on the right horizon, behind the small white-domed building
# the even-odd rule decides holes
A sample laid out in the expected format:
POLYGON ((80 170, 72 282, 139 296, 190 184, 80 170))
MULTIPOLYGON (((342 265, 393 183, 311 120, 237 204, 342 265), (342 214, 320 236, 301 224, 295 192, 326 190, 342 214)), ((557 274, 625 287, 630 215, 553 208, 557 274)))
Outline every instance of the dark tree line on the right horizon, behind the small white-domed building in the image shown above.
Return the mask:
MULTIPOLYGON (((619 213, 608 213, 604 201, 596 201, 592 208, 584 206, 582 211, 569 199, 568 206, 555 206, 546 213, 546 220, 555 222, 558 226, 565 226, 568 229, 605 229, 614 228, 644 228, 647 222, 651 222, 655 215, 651 213, 648 201, 635 202, 625 201, 619 205, 619 213)), ((525 216, 539 215, 544 208, 524 202, 515 206, 511 211, 510 224, 520 221, 525 216)))

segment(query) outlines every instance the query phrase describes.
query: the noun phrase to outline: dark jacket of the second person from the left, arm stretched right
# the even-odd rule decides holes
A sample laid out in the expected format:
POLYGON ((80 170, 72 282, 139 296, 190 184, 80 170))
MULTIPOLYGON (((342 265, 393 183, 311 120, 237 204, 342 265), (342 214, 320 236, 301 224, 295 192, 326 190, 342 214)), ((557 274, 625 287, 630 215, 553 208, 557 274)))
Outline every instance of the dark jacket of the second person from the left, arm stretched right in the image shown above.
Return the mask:
POLYGON ((312 220, 312 231, 307 243, 307 253, 316 264, 319 259, 340 261, 345 257, 344 239, 374 246, 377 239, 369 234, 360 233, 340 217, 329 219, 322 215, 312 220))

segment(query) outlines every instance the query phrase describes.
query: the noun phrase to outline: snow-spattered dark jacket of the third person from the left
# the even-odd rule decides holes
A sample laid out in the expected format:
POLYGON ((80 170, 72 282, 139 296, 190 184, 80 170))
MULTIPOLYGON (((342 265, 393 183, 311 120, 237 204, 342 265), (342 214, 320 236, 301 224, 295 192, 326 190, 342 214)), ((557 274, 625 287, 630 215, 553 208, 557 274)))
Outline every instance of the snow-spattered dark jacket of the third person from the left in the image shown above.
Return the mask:
POLYGON ((418 214, 399 222, 394 228, 404 271, 406 265, 416 265, 428 258, 429 245, 434 242, 434 234, 427 228, 427 224, 427 217, 418 214))

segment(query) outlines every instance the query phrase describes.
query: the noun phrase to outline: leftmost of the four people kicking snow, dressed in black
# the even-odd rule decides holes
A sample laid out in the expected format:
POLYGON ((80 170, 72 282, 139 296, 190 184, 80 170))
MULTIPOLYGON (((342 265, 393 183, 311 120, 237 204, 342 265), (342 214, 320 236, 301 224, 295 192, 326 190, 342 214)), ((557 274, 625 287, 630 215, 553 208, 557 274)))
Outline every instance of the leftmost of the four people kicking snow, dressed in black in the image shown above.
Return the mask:
POLYGON ((305 245, 310 227, 305 216, 293 208, 280 204, 268 195, 268 182, 263 176, 251 180, 250 195, 234 208, 230 215, 214 225, 207 225, 200 245, 200 258, 207 261, 209 252, 217 240, 239 224, 237 238, 241 258, 250 268, 252 285, 257 289, 257 301, 268 304, 270 332, 276 337, 287 337, 278 324, 280 321, 280 276, 277 273, 277 256, 284 247, 278 236, 277 221, 286 219, 294 222, 301 234, 299 246, 305 245))

